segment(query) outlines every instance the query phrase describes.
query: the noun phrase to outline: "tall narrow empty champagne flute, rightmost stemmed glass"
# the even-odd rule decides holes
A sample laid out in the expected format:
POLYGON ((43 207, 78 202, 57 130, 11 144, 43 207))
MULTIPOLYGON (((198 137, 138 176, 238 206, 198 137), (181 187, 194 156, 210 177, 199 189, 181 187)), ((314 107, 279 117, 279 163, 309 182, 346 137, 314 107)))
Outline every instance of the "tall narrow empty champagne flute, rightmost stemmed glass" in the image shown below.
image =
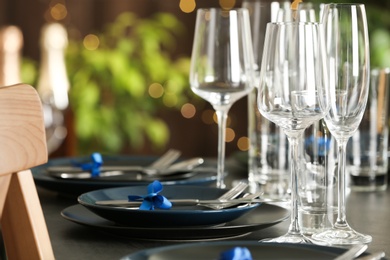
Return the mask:
POLYGON ((354 231, 345 212, 345 162, 348 139, 362 119, 369 89, 370 59, 363 4, 328 4, 323 24, 327 44, 331 106, 325 122, 338 146, 338 216, 330 230, 312 236, 319 243, 369 243, 369 235, 354 231))

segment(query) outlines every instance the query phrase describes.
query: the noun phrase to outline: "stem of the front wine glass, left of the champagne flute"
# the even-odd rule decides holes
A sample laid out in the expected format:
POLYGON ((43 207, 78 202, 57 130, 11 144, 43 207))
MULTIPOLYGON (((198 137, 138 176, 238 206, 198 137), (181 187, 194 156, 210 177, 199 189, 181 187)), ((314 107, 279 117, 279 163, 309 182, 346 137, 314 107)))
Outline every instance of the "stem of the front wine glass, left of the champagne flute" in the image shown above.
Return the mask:
MULTIPOLYGON (((302 132, 303 133, 303 132, 302 132)), ((291 223, 288 229, 289 234, 300 234, 298 224, 298 171, 299 171, 299 141, 301 134, 298 136, 288 136, 291 153, 291 223)))

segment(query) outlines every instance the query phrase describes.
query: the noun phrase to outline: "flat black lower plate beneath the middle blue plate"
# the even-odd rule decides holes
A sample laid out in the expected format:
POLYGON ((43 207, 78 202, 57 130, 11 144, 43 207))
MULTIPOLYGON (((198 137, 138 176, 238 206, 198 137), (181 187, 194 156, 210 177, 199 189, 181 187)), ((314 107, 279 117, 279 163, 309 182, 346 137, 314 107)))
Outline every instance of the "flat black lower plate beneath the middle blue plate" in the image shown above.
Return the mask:
POLYGON ((61 212, 70 221, 113 235, 149 240, 209 240, 242 236, 261 230, 286 220, 287 209, 270 204, 261 205, 248 214, 224 225, 209 227, 143 228, 118 226, 94 214, 82 205, 73 205, 61 212))

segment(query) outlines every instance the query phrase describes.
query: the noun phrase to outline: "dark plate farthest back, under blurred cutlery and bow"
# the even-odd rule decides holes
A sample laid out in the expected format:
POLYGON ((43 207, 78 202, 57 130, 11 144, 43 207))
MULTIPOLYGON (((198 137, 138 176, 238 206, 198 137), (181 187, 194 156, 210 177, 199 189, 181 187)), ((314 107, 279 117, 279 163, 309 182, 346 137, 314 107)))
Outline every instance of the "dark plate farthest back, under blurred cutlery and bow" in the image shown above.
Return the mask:
MULTIPOLYGON (((123 186, 138 186, 138 185, 147 185, 150 183, 148 181, 114 181, 114 180, 77 180, 77 179, 59 179, 49 176, 46 171, 48 166, 58 166, 58 165, 72 165, 72 161, 82 161, 88 160, 88 157, 67 157, 67 158, 58 158, 52 159, 48 163, 40 165, 32 169, 34 180, 36 185, 45 188, 47 190, 56 191, 61 194, 66 194, 70 196, 78 196, 82 193, 105 189, 113 187, 123 187, 123 186)), ((148 165, 153 162, 156 157, 150 156, 103 156, 103 161, 105 165, 148 165)), ((211 166, 210 163, 205 162, 205 166, 211 166)), ((163 185, 211 185, 216 180, 215 173, 201 172, 196 174, 193 177, 188 179, 178 179, 178 180, 166 180, 161 181, 163 185)))

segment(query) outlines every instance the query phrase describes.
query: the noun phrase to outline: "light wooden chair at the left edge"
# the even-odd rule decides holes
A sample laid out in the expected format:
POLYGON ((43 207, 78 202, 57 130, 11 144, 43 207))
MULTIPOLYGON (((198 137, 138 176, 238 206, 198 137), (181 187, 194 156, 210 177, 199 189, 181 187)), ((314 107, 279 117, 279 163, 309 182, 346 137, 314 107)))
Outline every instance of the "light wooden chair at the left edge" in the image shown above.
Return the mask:
POLYGON ((26 84, 0 88, 0 223, 8 259, 54 259, 31 167, 47 162, 40 98, 26 84))

